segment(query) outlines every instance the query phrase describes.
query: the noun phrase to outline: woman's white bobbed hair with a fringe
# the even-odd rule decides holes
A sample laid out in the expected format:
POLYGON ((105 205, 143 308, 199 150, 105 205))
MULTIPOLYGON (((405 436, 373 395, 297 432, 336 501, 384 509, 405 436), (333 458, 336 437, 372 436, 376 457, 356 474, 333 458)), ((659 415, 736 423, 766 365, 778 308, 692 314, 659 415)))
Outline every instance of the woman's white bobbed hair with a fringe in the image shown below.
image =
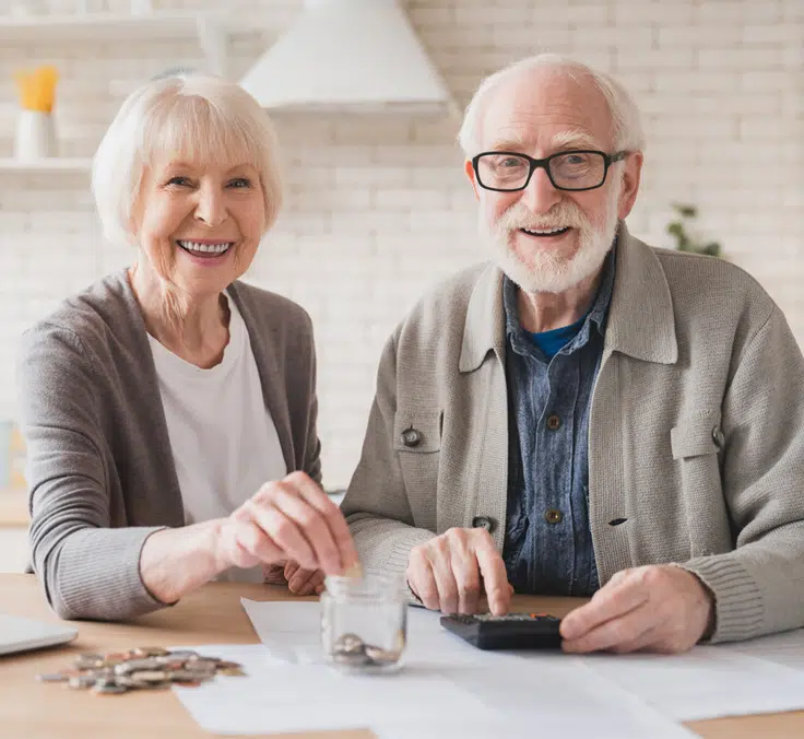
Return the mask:
POLYGON ((273 124, 239 85, 221 78, 176 73, 145 83, 126 98, 92 165, 104 235, 131 244, 132 209, 145 168, 161 154, 190 161, 253 165, 265 201, 265 231, 282 207, 282 180, 273 124))

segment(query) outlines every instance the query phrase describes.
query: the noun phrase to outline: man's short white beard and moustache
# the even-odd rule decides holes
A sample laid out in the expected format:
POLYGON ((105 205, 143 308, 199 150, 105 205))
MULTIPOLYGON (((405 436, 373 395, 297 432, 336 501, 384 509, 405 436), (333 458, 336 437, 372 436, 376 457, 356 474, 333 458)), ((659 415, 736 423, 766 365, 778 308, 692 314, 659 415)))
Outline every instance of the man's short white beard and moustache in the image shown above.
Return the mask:
POLYGON ((617 203, 622 184, 613 187, 605 203, 603 222, 592 223, 578 206, 561 201, 544 216, 533 215, 524 206, 513 204, 488 227, 481 214, 481 238, 495 255, 499 268, 528 293, 563 293, 594 274, 614 244, 617 233, 617 203), (546 230, 572 226, 579 231, 576 253, 565 258, 549 249, 534 248, 525 262, 513 249, 513 238, 520 228, 546 230))

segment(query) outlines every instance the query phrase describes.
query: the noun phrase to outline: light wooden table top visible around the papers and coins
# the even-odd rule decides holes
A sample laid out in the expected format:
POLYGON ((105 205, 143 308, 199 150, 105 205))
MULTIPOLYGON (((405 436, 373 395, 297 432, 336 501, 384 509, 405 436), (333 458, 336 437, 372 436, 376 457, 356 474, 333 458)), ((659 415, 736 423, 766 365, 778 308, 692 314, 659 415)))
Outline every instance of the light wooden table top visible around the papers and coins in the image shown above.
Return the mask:
MULTIPOLYGON (((202 731, 169 691, 98 696, 35 681, 40 672, 67 667, 81 652, 134 646, 255 644, 258 642, 240 607, 240 597, 285 600, 284 588, 212 583, 178 606, 129 623, 74 622, 79 637, 69 646, 0 657, 0 736, 9 739, 144 739, 210 736, 202 731)), ((563 615, 578 605, 570 598, 518 597, 520 610, 563 615)), ((0 575, 0 610, 58 622, 33 575, 0 575)), ((695 722, 688 726, 712 739, 804 737, 804 712, 695 722)), ((277 736, 277 735, 272 735, 277 736)), ((288 736, 288 735, 283 735, 288 736)), ((299 737, 299 735, 294 735, 299 737)), ((370 731, 308 734, 306 737, 365 739, 370 731)))

